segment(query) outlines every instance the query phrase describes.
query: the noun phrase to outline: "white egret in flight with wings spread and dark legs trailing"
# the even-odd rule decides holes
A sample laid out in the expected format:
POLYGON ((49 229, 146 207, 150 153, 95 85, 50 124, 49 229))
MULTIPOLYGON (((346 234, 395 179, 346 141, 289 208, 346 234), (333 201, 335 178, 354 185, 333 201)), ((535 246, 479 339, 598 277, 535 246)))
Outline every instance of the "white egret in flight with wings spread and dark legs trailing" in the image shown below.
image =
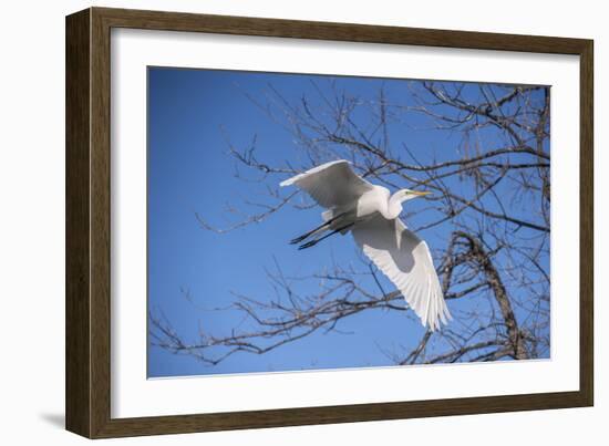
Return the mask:
POLYGON ((430 248, 400 219, 402 204, 427 195, 425 191, 389 189, 358 176, 344 159, 322 164, 286 179, 280 186, 295 185, 320 206, 323 224, 291 240, 310 248, 333 234, 351 231, 355 242, 395 284, 424 326, 440 328, 451 314, 433 266, 430 248))

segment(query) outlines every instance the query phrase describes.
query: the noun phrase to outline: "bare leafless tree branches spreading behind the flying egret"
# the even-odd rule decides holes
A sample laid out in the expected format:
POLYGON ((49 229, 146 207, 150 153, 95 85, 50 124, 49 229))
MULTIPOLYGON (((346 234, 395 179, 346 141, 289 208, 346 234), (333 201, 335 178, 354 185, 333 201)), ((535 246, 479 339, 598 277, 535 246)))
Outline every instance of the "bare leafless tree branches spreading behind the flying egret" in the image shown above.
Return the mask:
MULTIPOLYGON (((267 196, 244 201, 244 218, 225 228, 196 218, 205 230, 226 234, 299 211, 277 184, 329 159, 344 158, 362 176, 390 188, 434 191, 429 207, 403 217, 414 230, 446 236, 435 247, 437 272, 454 320, 425 331, 400 352, 395 364, 540 357, 549 352, 550 154, 549 89, 413 81, 404 102, 381 87, 373 97, 351 96, 336 82, 312 83, 316 94, 288 101, 269 86, 267 103, 250 96, 272 122, 291 134, 299 164, 260 160, 256 138, 246 149, 229 143, 239 180, 266 185, 267 196), (442 147, 411 147, 398 135, 446 134, 442 147), (244 176, 242 173, 247 173, 244 176), (411 221, 412 220, 412 221, 411 221), (462 304, 466 303, 466 304, 462 304)), ((314 333, 341 332, 342 321, 373 310, 412 311, 398 291, 384 289, 368 261, 360 269, 286 278, 268 272, 273 290, 254 298, 235 293, 228 310, 244 326, 225 333, 202 328, 186 341, 163 313, 151 312, 154 345, 215 365, 237 353, 265 354, 314 333), (292 282, 307 283, 301 295, 292 282)))

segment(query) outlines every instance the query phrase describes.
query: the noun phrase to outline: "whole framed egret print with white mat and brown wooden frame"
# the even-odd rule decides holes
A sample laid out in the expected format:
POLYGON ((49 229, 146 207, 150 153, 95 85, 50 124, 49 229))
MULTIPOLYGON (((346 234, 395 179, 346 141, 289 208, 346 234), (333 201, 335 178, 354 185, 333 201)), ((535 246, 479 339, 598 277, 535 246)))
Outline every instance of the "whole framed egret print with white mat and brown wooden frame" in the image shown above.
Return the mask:
POLYGON ((592 405, 592 41, 66 18, 66 428, 592 405))

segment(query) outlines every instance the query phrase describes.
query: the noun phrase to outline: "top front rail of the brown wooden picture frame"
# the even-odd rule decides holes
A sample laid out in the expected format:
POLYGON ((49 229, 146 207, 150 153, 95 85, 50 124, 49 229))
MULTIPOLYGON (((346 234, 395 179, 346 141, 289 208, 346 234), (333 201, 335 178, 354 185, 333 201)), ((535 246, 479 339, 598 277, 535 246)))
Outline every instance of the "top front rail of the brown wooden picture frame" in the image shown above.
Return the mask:
POLYGON ((113 27, 348 42, 579 54, 585 40, 183 12, 94 9, 113 27))

